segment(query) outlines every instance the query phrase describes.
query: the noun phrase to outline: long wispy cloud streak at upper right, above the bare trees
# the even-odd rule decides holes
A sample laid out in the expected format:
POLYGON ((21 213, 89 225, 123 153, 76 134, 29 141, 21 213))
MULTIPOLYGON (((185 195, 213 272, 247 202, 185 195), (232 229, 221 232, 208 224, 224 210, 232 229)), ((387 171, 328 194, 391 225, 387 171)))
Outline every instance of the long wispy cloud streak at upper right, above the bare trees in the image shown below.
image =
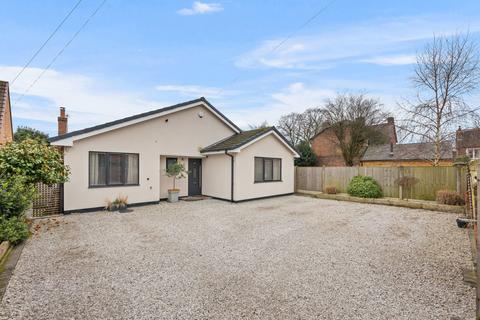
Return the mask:
MULTIPOLYGON (((257 48, 239 56, 235 65, 240 68, 318 69, 328 68, 345 60, 360 61, 402 52, 403 57, 385 59, 384 64, 410 62, 409 53, 433 35, 452 35, 459 31, 470 34, 480 31, 480 22, 472 20, 465 27, 465 17, 405 17, 393 21, 368 21, 354 26, 322 30, 310 35, 289 39, 274 49, 283 39, 263 41, 257 48)), ((373 61, 373 60, 372 60, 373 61)), ((380 61, 381 62, 381 61, 380 61)))

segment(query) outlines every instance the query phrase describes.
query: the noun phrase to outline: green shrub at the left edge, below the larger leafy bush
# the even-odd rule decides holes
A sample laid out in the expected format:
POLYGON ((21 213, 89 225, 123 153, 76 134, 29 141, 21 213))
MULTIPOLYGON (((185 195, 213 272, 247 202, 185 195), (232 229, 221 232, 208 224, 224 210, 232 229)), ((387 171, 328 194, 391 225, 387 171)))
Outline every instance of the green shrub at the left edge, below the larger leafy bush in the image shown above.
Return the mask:
POLYGON ((0 217, 22 217, 36 195, 22 176, 0 177, 0 217))

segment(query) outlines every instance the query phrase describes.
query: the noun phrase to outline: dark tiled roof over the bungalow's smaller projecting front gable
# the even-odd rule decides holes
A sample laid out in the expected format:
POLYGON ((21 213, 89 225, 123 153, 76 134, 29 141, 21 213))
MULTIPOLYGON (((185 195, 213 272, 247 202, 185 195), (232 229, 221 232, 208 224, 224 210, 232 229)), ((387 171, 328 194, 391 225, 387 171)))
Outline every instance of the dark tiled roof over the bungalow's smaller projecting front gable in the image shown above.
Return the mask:
POLYGON ((240 133, 234 134, 228 138, 225 138, 212 145, 209 145, 208 147, 203 148, 202 150, 200 150, 200 152, 204 153, 204 152, 228 151, 228 150, 237 149, 270 131, 274 131, 276 134, 278 134, 278 136, 280 136, 280 138, 287 145, 289 145, 293 150, 295 150, 295 148, 290 144, 290 142, 280 132, 278 132, 278 130, 275 127, 266 127, 266 128, 242 131, 240 133))

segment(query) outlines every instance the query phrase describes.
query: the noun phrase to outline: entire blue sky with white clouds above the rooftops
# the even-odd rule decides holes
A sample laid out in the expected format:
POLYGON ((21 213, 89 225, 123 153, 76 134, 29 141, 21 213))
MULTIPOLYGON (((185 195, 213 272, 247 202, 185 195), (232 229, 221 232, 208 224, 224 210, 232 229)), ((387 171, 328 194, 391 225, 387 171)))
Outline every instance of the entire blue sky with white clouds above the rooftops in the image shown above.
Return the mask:
MULTIPOLYGON (((15 77, 77 1, 2 3, 0 79, 15 77)), ((22 96, 101 2, 83 0, 11 85, 15 126, 55 135, 60 105, 74 130, 205 96, 245 128, 345 91, 377 97, 395 114, 414 93, 415 53, 434 34, 480 40, 473 0, 108 0, 22 96)))

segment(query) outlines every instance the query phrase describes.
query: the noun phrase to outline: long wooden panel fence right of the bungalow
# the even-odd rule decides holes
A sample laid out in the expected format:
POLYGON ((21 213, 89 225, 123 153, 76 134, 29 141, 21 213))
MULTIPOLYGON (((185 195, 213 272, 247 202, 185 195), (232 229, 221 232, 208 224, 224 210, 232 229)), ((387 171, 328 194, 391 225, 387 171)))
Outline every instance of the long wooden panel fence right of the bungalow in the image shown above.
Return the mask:
POLYGON ((435 200, 438 190, 465 190, 464 172, 457 167, 296 167, 297 190, 324 192, 326 187, 336 187, 347 192, 347 186, 357 175, 371 176, 382 187, 385 197, 435 200), (415 177, 418 182, 401 190, 397 181, 401 177, 415 177))

